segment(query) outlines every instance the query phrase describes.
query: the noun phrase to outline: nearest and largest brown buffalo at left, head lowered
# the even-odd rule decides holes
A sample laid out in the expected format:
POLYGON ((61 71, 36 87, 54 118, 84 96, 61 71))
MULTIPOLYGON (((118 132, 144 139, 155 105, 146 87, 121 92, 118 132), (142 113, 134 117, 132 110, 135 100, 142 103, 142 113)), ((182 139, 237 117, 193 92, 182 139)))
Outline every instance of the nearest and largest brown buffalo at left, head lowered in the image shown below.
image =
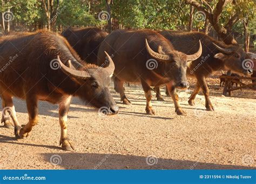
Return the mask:
POLYGON ((1 37, 0 56, 3 121, 7 123, 6 114, 9 113, 15 125, 16 138, 28 137, 37 124, 38 100, 59 104, 60 145, 65 150, 74 149, 67 133, 67 114, 72 96, 95 107, 104 106, 110 114, 118 113, 118 106, 108 88, 114 64, 107 53, 108 67, 83 66, 64 37, 38 31, 1 37), (23 127, 17 120, 12 97, 26 100, 29 122, 23 127))

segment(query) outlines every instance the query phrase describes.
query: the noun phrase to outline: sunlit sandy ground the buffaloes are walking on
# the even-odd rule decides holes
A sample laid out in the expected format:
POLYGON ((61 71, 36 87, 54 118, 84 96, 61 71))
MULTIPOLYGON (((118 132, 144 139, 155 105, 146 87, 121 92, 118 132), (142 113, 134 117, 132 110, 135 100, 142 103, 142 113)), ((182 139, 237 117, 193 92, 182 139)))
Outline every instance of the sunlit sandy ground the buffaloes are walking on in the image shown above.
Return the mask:
MULTIPOLYGON (((166 96, 165 102, 153 98, 157 115, 146 115, 144 92, 136 85, 126 86, 131 106, 120 103, 111 85, 120 107, 114 116, 99 115, 74 98, 68 125, 69 138, 76 145, 73 152, 62 151, 58 145, 57 105, 41 102, 39 124, 30 137, 16 140, 14 130, 0 126, 0 168, 255 169, 255 91, 221 97, 219 79, 208 81, 215 112, 205 111, 202 93, 192 107, 187 104, 189 91, 179 92, 186 116, 176 115, 171 98, 166 96)), ((193 90, 194 80, 191 84, 193 90)), ((26 124, 25 102, 14 102, 19 121, 26 124)))

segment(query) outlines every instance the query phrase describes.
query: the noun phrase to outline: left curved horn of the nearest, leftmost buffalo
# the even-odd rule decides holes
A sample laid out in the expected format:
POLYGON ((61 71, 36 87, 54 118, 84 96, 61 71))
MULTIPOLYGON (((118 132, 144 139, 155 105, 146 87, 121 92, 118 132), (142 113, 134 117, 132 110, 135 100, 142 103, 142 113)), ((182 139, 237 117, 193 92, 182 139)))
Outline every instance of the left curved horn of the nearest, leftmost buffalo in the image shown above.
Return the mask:
MULTIPOLYGON (((79 79, 86 79, 91 77, 90 73, 86 70, 73 70, 70 69, 68 66, 64 65, 62 63, 62 61, 60 60, 59 56, 57 56, 57 61, 59 63, 60 69, 62 69, 62 71, 67 74, 68 76, 71 77, 75 77, 75 78, 79 78, 79 79)), ((70 61, 69 61, 69 65, 70 65, 70 61)))

